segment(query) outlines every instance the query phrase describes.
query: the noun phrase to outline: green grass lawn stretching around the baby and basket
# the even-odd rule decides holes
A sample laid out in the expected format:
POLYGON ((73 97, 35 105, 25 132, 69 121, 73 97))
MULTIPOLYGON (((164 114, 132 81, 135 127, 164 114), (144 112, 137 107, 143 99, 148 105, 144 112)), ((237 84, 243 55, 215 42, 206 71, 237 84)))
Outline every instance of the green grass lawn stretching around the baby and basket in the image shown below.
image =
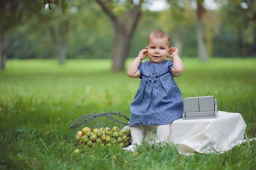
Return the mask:
MULTIPOLYGON (((129 59, 126 63, 131 62, 129 59)), ((183 97, 214 95, 220 111, 241 113, 247 138, 256 137, 256 58, 184 58, 175 78, 183 97)), ((70 124, 84 113, 122 111, 140 79, 111 72, 111 61, 9 60, 0 72, 0 169, 256 169, 256 143, 224 154, 183 156, 177 146, 76 146, 70 124), (80 152, 73 154, 78 148, 80 152)))

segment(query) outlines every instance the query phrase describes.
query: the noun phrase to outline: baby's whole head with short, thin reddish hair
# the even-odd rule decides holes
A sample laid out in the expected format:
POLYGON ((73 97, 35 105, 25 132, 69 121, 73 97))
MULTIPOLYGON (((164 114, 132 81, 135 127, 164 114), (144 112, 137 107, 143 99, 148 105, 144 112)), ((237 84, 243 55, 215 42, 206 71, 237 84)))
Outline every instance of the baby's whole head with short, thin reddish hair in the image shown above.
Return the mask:
POLYGON ((161 63, 170 53, 170 37, 164 31, 154 31, 148 36, 148 58, 151 62, 161 63))

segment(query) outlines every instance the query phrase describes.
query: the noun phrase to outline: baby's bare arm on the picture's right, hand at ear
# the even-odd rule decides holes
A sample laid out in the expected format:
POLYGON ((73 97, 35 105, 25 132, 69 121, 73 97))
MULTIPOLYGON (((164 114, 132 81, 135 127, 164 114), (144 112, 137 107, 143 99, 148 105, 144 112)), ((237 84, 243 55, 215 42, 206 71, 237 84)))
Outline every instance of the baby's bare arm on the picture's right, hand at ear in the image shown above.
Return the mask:
POLYGON ((172 75, 179 76, 184 71, 184 65, 178 55, 178 48, 171 48, 171 55, 169 55, 173 60, 173 68, 172 68, 172 75))

